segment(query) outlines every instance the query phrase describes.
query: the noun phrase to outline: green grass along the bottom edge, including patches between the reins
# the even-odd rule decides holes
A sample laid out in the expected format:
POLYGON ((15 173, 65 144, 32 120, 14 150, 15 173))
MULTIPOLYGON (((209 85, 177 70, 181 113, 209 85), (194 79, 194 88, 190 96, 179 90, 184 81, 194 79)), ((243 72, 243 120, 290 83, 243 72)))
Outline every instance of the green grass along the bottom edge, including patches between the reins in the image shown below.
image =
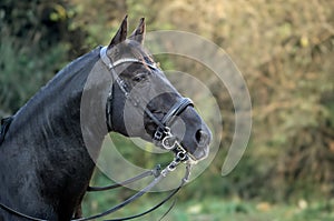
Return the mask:
MULTIPOLYGON (((157 197, 160 199, 160 197, 157 197)), ((119 218, 143 212, 158 200, 145 197, 110 215, 119 218)), ((159 220, 171 202, 157 211, 137 219, 138 221, 159 220)), ((220 199, 208 197, 200 201, 177 201, 173 210, 163 219, 165 221, 332 221, 334 220, 334 200, 306 202, 301 200, 295 204, 272 204, 261 201, 244 201, 239 199, 220 199)))

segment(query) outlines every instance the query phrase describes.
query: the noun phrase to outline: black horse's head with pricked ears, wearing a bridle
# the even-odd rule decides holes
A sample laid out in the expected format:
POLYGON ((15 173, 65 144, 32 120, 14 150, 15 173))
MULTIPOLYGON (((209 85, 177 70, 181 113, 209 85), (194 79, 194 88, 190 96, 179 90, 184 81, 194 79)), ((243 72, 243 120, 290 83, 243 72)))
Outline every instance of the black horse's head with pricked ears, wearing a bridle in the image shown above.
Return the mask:
POLYGON ((126 17, 110 44, 101 50, 114 79, 107 104, 108 129, 167 149, 177 141, 193 160, 205 159, 210 130, 144 48, 145 30, 141 19, 127 38, 126 17))

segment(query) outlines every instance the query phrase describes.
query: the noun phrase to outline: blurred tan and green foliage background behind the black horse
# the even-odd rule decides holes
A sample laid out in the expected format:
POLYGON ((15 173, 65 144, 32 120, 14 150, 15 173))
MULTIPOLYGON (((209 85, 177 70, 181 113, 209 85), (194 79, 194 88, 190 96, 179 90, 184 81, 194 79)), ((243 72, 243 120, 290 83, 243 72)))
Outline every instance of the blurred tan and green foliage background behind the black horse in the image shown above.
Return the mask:
MULTIPOLYGON (((215 42, 238 67, 252 97, 250 142, 237 168, 222 177, 234 109, 226 90, 206 82, 222 107, 222 147, 166 220, 334 220, 332 0, 2 0, 0 117, 13 114, 69 61, 109 43, 125 14, 130 30, 145 17, 148 31, 176 29, 215 42)), ((205 79, 194 66, 184 69, 205 79)), ((136 161, 136 154, 128 157, 136 161)), ((97 171, 94 182, 108 180, 97 171)), ((89 194, 85 214, 130 193, 89 194)), ((145 197, 117 215, 143 211, 160 198, 145 197)), ((167 208, 141 220, 158 220, 167 208)))

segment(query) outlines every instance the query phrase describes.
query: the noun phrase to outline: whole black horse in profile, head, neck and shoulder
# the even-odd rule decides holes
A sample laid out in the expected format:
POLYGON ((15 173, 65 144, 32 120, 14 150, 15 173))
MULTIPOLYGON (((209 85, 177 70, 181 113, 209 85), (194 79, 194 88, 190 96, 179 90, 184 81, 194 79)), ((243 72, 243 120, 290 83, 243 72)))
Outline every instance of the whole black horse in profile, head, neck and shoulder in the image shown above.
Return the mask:
MULTIPOLYGON (((141 19, 127 38, 125 18, 108 47, 99 47, 68 64, 13 115, 0 145, 1 203, 40 219, 72 219, 105 135, 114 131, 156 140, 161 135, 158 132, 166 132, 161 128, 169 123, 166 114, 178 114, 184 122, 183 134, 177 130, 174 133, 194 160, 207 155, 209 129, 156 68, 143 48, 144 34, 141 19), (95 80, 88 83, 89 78, 95 80), (145 107, 137 103, 155 89, 167 92, 158 93, 145 107)), ((26 219, 0 208, 0 220, 26 219)))

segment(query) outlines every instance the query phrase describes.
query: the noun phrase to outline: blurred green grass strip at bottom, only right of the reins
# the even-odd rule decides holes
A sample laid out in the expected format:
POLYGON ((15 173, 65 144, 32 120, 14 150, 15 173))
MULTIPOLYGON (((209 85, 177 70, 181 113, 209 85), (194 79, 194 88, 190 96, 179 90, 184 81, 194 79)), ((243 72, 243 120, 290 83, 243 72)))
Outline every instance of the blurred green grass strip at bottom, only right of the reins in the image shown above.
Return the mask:
POLYGON ((183 221, 330 221, 334 220, 334 202, 271 204, 267 202, 220 200, 179 203, 169 220, 183 221))

